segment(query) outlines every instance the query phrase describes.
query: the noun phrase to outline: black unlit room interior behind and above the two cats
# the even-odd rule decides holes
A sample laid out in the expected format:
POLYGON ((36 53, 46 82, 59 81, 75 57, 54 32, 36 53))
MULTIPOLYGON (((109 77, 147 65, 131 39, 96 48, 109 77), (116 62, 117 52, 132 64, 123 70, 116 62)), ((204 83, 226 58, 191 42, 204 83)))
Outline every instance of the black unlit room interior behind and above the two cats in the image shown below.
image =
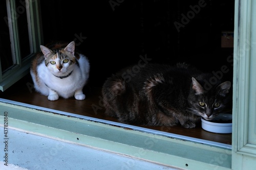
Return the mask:
POLYGON ((92 86, 101 87, 107 77, 145 55, 152 63, 187 62, 203 71, 219 71, 225 65, 229 71, 224 76, 232 81, 233 48, 221 47, 221 33, 233 31, 234 0, 42 0, 40 4, 44 43, 75 40, 90 60, 92 86), (191 6, 200 3, 205 6, 193 15, 191 6), (191 19, 178 31, 175 22, 182 24, 187 14, 191 19))

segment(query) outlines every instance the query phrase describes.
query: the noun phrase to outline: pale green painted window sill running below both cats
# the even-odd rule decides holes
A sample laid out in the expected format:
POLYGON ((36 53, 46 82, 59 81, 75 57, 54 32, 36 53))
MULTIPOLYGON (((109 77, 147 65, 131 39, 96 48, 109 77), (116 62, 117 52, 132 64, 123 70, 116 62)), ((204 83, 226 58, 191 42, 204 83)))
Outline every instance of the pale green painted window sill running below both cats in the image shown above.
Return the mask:
MULTIPOLYGON (((0 99, 8 126, 186 169, 231 168, 231 146, 0 99), (218 158, 218 159, 215 159, 218 158), (222 160, 222 159, 225 159, 222 160)), ((0 124, 4 123, 3 114, 0 124)))

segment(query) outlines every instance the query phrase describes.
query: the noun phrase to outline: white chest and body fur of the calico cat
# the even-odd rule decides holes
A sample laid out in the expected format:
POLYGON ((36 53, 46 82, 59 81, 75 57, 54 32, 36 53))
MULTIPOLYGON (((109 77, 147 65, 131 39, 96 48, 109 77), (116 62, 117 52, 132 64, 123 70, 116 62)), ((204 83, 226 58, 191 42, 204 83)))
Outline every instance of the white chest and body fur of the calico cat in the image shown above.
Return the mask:
POLYGON ((44 95, 50 95, 51 90, 63 98, 74 96, 75 92, 82 90, 89 78, 90 65, 88 59, 82 56, 67 72, 56 74, 48 69, 45 63, 37 67, 39 82, 35 84, 37 91, 44 95))

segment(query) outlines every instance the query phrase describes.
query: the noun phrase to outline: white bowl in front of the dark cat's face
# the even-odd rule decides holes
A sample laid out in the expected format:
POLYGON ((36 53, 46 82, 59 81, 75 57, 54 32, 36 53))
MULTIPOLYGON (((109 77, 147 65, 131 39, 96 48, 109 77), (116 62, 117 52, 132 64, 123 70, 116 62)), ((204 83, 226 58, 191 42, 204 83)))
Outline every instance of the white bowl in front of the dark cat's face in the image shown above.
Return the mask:
POLYGON ((232 114, 220 113, 213 120, 207 121, 203 118, 202 128, 209 132, 214 133, 232 133, 232 123, 225 123, 225 121, 230 122, 232 120, 232 114))

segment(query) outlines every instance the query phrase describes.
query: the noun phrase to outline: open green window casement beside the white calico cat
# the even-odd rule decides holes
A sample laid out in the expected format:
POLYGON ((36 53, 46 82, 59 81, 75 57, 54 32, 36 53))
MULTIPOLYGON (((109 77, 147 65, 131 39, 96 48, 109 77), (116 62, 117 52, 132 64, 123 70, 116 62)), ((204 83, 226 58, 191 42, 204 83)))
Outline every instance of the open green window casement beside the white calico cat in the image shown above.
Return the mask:
MULTIPOLYGON (((0 63, 0 90, 4 91, 19 79, 23 78, 29 72, 31 57, 39 51, 39 46, 42 44, 42 32, 40 21, 39 1, 24 0, 27 12, 30 55, 24 57, 20 54, 20 41, 18 34, 17 12, 15 0, 6 0, 7 18, 10 33, 11 53, 14 60, 14 65, 4 71, 0 63)), ((1 62, 1 60, 0 60, 1 62)))

